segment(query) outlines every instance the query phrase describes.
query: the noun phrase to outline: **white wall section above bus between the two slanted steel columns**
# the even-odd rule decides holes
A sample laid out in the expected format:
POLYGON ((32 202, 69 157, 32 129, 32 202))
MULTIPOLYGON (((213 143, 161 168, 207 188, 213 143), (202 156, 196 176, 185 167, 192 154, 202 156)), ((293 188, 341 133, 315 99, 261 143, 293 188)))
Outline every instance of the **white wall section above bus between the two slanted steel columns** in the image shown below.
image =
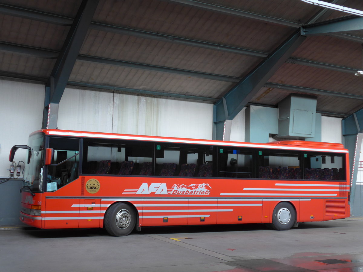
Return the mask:
POLYGON ((58 128, 212 139, 213 105, 66 88, 58 128))

